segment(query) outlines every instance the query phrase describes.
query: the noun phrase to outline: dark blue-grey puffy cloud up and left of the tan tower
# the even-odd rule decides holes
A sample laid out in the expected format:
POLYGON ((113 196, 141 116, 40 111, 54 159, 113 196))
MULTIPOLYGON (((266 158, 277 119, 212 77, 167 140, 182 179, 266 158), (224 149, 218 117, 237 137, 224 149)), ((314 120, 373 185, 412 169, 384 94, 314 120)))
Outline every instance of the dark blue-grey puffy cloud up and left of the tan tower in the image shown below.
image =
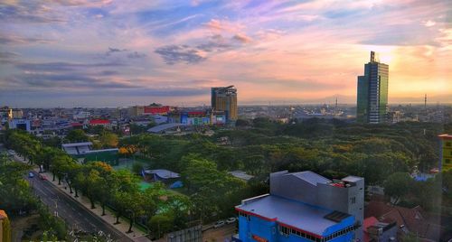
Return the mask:
POLYGON ((187 45, 166 45, 155 49, 155 53, 159 54, 168 65, 178 62, 196 64, 206 60, 201 51, 187 45))

